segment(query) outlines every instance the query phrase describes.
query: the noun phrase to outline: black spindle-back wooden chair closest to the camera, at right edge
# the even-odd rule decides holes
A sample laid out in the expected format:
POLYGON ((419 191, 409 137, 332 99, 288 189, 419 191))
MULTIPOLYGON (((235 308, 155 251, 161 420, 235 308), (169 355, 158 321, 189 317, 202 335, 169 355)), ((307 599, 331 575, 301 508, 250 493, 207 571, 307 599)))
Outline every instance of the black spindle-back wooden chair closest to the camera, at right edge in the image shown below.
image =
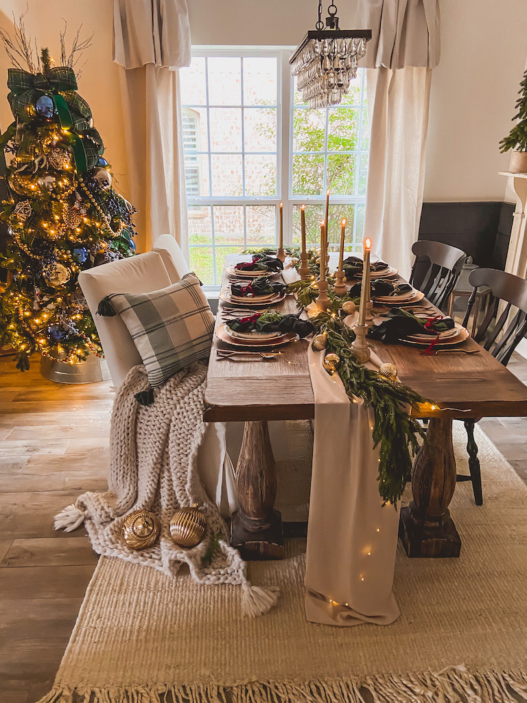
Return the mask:
MULTIPOLYGON (((476 300, 476 293, 481 286, 488 286, 493 295, 493 302, 488 307, 485 319, 479 326, 475 340, 483 349, 490 352, 497 361, 507 366, 512 352, 527 333, 527 280, 513 276, 512 273, 495 269, 476 269, 469 276, 474 290, 469 298, 463 326, 466 327, 476 300), (506 303, 499 318, 500 301, 506 303), (495 323, 493 321, 496 319, 495 323)), ((461 418, 460 418, 461 419, 461 418)), ((467 451, 469 453, 470 476, 457 475, 458 481, 471 481, 476 505, 483 504, 481 491, 481 469, 478 458, 478 446, 474 441, 474 425, 478 420, 464 420, 467 428, 467 451)))

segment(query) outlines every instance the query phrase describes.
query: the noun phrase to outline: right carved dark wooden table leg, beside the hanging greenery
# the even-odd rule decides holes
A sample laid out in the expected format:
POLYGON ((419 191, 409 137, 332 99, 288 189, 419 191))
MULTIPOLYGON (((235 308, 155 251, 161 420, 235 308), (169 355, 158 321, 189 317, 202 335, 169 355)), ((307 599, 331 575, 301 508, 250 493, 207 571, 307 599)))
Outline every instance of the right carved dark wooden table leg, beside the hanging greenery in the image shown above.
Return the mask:
POLYGON ((459 557, 461 539, 448 511, 455 475, 452 420, 431 418, 412 472, 414 499, 401 510, 399 537, 409 557, 459 557))

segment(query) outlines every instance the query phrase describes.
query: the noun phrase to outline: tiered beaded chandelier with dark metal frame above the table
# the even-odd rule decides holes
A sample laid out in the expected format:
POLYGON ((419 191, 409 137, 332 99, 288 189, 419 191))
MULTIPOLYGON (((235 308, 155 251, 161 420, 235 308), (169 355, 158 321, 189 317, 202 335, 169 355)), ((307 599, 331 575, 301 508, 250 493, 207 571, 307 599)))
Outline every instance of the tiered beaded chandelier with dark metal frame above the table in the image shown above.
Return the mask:
POLYGON ((357 63, 366 53, 371 30, 340 30, 337 6, 327 8, 326 27, 322 22, 322 0, 318 0, 318 22, 289 59, 297 88, 310 108, 338 105, 357 76, 357 63))

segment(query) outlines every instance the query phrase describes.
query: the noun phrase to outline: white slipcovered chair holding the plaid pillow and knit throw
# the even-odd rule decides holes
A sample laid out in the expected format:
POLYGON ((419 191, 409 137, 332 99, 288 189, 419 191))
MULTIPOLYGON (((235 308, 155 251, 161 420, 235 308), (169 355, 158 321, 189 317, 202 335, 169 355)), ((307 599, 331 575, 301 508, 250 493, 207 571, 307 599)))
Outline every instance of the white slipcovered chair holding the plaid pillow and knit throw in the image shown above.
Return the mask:
MULTIPOLYGON (((178 276, 176 280, 180 278, 178 276)), ((93 315, 112 382, 116 387, 121 385, 129 370, 142 361, 120 316, 103 317, 97 314, 100 300, 110 293, 146 293, 160 290, 171 283, 174 280, 171 280, 161 255, 153 251, 79 273, 79 285, 93 315)), ((238 501, 233 464, 226 451, 225 425, 207 425, 197 464, 207 495, 218 505, 223 517, 230 516, 238 508, 238 501)))

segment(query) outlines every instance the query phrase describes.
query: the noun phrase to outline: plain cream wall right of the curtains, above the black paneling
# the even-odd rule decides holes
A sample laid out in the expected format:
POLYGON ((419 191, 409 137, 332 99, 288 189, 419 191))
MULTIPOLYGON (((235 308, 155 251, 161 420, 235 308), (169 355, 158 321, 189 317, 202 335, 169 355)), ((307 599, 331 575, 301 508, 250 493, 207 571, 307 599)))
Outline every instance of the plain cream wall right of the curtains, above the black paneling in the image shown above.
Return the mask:
POLYGON ((527 54, 526 0, 441 0, 441 63, 432 76, 425 200, 502 200, 527 54))

